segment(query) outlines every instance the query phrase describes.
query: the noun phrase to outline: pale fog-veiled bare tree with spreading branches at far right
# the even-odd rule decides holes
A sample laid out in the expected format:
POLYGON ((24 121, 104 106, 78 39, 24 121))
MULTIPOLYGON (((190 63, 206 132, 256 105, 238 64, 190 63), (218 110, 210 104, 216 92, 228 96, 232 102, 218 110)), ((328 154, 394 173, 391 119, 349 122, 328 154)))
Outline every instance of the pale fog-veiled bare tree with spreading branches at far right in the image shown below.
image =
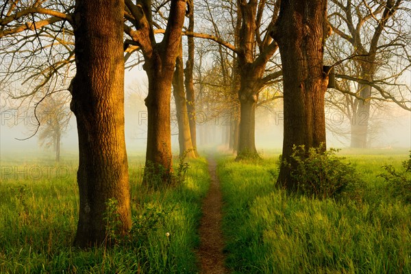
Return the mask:
POLYGON ((332 40, 329 52, 338 64, 337 77, 356 82, 355 91, 343 83, 337 89, 352 96, 343 112, 351 121, 351 147, 365 148, 375 100, 394 101, 410 110, 410 100, 399 90, 399 77, 410 67, 410 29, 405 27, 407 18, 410 20, 409 6, 403 0, 331 2, 329 20, 338 37, 332 40), (341 59, 348 60, 351 69, 341 59))

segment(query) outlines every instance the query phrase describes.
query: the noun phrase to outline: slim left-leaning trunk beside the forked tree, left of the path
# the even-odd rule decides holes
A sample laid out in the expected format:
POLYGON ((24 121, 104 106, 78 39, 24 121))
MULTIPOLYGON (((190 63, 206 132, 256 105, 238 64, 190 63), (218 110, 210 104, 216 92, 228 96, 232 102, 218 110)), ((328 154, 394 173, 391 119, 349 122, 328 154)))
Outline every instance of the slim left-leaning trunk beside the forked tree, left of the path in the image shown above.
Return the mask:
POLYGON ((184 63, 183 45, 180 43, 180 51, 175 60, 175 71, 173 79, 173 95, 175 110, 177 112, 179 157, 196 158, 195 150, 191 142, 190 124, 188 123, 188 111, 186 95, 184 93, 184 63))

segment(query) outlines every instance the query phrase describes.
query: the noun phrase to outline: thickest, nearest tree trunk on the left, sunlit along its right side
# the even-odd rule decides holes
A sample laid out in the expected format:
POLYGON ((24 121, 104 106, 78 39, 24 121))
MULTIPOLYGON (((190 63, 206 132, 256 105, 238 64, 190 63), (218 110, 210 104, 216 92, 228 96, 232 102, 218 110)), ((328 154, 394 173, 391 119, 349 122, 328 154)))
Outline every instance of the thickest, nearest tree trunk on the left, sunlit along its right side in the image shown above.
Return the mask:
POLYGON ((77 247, 105 240, 108 199, 118 201, 116 232, 127 233, 132 223, 124 136, 123 14, 121 0, 75 4, 77 73, 71 110, 79 137, 77 247))

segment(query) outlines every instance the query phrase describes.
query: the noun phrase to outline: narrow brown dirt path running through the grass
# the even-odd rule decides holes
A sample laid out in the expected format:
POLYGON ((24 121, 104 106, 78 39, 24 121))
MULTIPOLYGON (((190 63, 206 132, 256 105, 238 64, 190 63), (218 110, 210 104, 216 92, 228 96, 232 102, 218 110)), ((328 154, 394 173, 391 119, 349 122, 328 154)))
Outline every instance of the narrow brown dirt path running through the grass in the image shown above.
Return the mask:
POLYGON ((201 244, 198 256, 201 263, 201 273, 203 274, 228 273, 224 266, 224 240, 221 231, 223 197, 216 170, 216 162, 214 159, 209 158, 208 171, 210 172, 211 185, 208 195, 203 200, 203 218, 199 228, 201 244))

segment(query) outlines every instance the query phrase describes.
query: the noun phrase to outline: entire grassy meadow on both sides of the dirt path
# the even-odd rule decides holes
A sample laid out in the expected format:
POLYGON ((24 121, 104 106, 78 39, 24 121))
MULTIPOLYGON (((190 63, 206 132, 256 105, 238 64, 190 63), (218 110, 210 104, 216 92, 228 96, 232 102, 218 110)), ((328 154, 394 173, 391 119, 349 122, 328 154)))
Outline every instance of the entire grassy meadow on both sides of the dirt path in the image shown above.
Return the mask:
MULTIPOLYGON (((378 176, 383 164, 401 170, 408 151, 338 155, 366 182, 359 200, 312 199, 277 188, 279 151, 264 151, 258 161, 217 157, 231 273, 411 273, 411 205, 378 176)), ((144 155, 129 155, 131 236, 112 248, 81 250, 71 247, 77 158, 49 159, 2 155, 0 273, 199 273, 206 160, 190 161, 183 184, 149 190, 140 184, 144 155)))

